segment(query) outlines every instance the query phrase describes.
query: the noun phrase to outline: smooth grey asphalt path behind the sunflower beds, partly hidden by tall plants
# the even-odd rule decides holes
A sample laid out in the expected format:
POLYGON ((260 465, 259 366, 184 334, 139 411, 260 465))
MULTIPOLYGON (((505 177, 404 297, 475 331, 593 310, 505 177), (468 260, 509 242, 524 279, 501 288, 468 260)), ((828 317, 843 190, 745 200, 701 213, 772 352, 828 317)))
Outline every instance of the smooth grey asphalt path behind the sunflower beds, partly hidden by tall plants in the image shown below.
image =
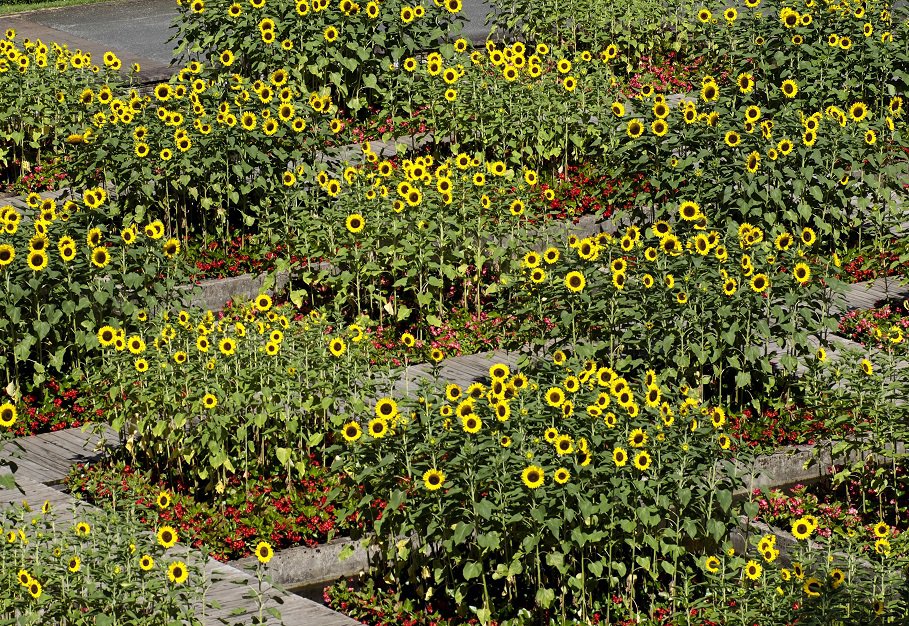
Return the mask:
MULTIPOLYGON (((462 34, 474 41, 485 40, 489 7, 482 0, 464 0, 463 6, 467 23, 462 34)), ((168 40, 175 34, 175 0, 116 0, 34 11, 19 17, 161 65, 169 64, 173 58, 174 42, 168 40)))

